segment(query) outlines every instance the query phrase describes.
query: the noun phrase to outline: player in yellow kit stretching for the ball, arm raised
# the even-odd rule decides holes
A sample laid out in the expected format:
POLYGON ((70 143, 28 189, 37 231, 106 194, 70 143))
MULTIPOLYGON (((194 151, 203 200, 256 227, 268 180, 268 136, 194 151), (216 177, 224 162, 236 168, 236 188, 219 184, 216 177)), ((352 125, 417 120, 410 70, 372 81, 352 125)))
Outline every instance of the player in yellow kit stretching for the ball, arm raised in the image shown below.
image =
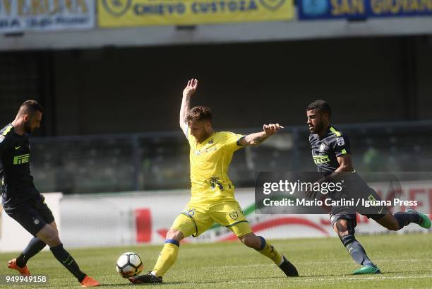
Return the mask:
POLYGON ((191 146, 191 200, 167 232, 164 248, 153 271, 131 277, 129 281, 162 283, 162 276, 177 259, 180 241, 191 235, 197 237, 214 223, 232 230, 241 242, 270 258, 287 276, 299 276, 296 267, 277 252, 275 247, 252 232, 239 203, 234 199, 234 185, 228 177, 229 163, 235 151, 244 146, 262 143, 282 126, 264 125, 263 131, 247 136, 214 131, 208 107, 189 108, 191 95, 197 87, 196 79, 188 81, 180 109, 180 127, 191 146))

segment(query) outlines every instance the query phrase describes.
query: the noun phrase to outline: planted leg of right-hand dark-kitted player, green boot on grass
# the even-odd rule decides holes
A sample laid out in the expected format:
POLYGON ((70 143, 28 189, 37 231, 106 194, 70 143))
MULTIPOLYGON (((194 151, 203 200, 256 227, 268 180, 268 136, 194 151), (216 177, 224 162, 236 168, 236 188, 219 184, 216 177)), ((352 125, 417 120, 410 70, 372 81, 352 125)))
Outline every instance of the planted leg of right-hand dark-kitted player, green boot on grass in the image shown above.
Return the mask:
POLYGON ((332 216, 332 227, 339 236, 344 247, 347 248, 352 259, 361 265, 361 269, 354 271, 354 274, 380 273, 378 267, 373 264, 366 255, 366 251, 354 236, 356 227, 356 216, 332 216))

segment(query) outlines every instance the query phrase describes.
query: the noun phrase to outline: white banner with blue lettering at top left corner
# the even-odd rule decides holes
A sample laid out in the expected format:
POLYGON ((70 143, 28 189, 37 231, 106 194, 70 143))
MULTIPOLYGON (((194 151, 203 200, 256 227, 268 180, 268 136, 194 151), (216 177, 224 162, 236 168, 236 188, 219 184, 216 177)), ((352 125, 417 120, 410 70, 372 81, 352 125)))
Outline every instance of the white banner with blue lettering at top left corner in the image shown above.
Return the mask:
POLYGON ((93 0, 0 0, 0 33, 94 27, 93 0))

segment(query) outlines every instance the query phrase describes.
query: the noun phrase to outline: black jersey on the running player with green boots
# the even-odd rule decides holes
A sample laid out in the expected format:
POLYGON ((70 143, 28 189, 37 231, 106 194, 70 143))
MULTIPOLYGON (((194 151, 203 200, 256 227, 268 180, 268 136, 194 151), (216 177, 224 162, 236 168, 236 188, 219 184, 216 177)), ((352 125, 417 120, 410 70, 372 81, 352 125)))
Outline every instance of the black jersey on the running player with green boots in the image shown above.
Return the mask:
POLYGON ((329 126, 323 138, 318 134, 311 134, 309 142, 312 147, 313 162, 323 176, 331 175, 339 167, 338 156, 350 153, 347 136, 332 126, 329 126))

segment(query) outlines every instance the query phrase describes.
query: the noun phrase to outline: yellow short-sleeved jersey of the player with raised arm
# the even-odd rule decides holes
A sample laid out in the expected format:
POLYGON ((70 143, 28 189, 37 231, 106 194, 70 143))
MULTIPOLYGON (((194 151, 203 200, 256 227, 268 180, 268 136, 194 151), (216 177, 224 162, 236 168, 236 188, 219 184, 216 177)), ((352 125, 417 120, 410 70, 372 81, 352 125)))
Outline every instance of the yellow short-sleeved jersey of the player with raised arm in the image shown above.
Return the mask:
POLYGON ((190 204, 214 204, 234 200, 234 185, 228 177, 232 155, 239 148, 241 134, 229 131, 213 133, 198 143, 188 129, 187 138, 191 151, 191 201, 190 204))

